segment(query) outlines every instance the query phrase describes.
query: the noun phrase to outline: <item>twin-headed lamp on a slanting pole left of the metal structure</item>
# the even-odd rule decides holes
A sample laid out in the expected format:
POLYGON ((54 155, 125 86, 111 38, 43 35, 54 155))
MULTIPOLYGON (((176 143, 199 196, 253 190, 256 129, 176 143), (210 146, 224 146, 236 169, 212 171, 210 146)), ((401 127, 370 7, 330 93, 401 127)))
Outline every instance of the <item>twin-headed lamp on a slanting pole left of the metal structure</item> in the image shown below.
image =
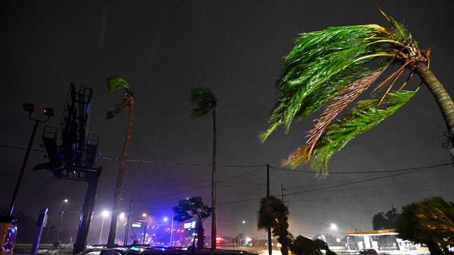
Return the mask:
POLYGON ((29 160, 31 146, 33 145, 33 140, 35 139, 35 134, 36 134, 36 130, 38 129, 38 124, 40 122, 45 123, 45 122, 49 121, 49 118, 51 116, 54 116, 54 109, 45 107, 45 108, 43 108, 43 115, 47 116, 47 118, 45 118, 45 120, 31 118, 31 114, 35 111, 34 105, 33 104, 24 104, 24 105, 22 105, 22 107, 24 108, 24 111, 27 111, 29 113, 29 119, 31 119, 31 121, 34 121, 35 125, 33 127, 33 131, 31 132, 29 146, 27 146, 27 150, 25 150, 24 160, 22 160, 22 167, 20 167, 20 172, 19 172, 19 176, 17 177, 17 183, 14 188, 13 197, 11 198, 10 208, 8 210, 9 217, 13 216, 14 206, 16 204, 17 192, 19 192, 20 183, 22 183, 22 177, 24 177, 25 166, 27 165, 27 161, 29 160))

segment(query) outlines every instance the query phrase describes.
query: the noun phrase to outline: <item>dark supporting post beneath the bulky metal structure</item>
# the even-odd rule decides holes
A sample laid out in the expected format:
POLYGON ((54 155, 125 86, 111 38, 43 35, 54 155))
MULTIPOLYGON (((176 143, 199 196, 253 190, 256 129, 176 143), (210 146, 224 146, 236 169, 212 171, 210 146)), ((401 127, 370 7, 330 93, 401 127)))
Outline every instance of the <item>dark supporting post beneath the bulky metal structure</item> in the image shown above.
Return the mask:
POLYGON ((78 229, 78 236, 75 238, 73 254, 78 254, 85 250, 87 246, 88 231, 91 223, 91 216, 93 216, 94 202, 96 200, 96 189, 98 187, 99 175, 101 169, 95 173, 87 173, 87 193, 85 193, 84 206, 82 208, 82 215, 80 215, 80 224, 78 229))

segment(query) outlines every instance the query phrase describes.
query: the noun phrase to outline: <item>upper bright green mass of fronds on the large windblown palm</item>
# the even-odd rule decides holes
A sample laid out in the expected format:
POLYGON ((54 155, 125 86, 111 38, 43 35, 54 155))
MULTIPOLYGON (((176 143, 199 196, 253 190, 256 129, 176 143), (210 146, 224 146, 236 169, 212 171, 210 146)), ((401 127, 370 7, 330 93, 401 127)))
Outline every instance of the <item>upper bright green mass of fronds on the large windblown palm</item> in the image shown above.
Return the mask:
POLYGON ((374 72, 365 64, 379 56, 392 56, 372 43, 382 39, 383 31, 386 29, 378 25, 364 25, 302 33, 285 58, 277 82, 278 102, 268 120, 270 127, 261 134, 262 141, 280 125, 288 132, 295 116, 311 115, 334 98, 339 87, 374 72))

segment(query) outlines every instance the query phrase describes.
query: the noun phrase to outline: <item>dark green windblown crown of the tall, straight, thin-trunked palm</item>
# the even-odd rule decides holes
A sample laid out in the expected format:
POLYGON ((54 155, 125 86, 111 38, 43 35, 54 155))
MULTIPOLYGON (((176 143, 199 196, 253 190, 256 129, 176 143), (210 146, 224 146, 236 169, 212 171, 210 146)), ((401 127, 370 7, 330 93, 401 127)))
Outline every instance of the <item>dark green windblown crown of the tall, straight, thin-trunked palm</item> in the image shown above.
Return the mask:
POLYGON ((216 106, 216 97, 209 88, 191 88, 192 116, 206 116, 216 106))

